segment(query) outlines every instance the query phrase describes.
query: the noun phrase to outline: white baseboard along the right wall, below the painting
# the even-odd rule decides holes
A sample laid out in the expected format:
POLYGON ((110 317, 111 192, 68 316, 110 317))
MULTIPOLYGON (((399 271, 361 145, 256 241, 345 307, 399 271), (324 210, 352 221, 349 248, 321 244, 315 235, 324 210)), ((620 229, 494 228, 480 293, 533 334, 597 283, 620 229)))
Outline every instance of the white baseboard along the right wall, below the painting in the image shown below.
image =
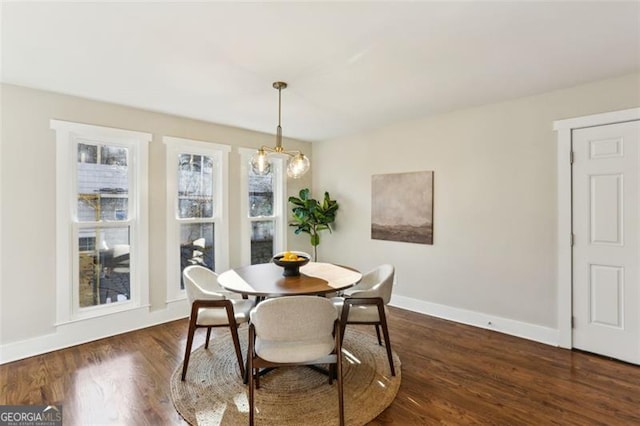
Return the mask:
POLYGON ((472 325, 474 327, 485 328, 500 333, 509 334, 524 339, 533 340, 547 345, 558 346, 560 342, 559 331, 555 328, 543 327, 512 319, 487 315, 480 312, 468 311, 466 309, 454 308, 437 303, 425 302, 424 300, 413 299, 405 296, 393 295, 391 306, 407 309, 421 314, 472 325))

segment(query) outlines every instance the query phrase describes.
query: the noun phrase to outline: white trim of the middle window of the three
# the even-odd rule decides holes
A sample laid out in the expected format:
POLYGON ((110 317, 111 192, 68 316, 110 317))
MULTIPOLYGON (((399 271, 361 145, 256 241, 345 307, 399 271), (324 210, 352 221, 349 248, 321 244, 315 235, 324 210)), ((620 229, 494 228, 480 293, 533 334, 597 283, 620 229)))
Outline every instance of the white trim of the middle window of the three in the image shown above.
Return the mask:
MULTIPOLYGON (((213 142, 164 136, 162 141, 166 145, 166 173, 167 173, 167 303, 185 299, 186 292, 176 285, 180 282, 180 262, 176 255, 176 247, 180 243, 180 221, 178 220, 177 174, 179 154, 189 153, 213 157, 217 160, 216 167, 216 211, 212 222, 215 223, 214 251, 217 272, 229 269, 229 152, 231 147, 213 142)), ((185 220, 184 223, 188 223, 185 220)))

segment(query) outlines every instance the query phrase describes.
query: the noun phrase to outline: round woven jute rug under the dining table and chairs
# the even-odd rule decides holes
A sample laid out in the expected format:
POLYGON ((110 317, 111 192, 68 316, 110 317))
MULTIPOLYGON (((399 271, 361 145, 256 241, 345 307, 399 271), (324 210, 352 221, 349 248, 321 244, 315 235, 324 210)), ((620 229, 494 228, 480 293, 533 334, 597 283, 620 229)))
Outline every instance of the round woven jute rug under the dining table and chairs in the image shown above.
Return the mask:
MULTIPOLYGON (((246 354, 247 333, 238 333, 246 354)), ((211 336, 209 349, 193 351, 186 380, 182 365, 171 376, 171 399, 192 425, 246 425, 249 393, 242 383, 231 336, 211 336)), ((400 358, 394 352, 391 376, 384 346, 374 336, 347 328, 343 343, 345 423, 364 425, 387 408, 400 387, 400 358)), ((260 378, 255 393, 258 425, 336 425, 338 390, 327 376, 308 367, 273 370, 260 378)))

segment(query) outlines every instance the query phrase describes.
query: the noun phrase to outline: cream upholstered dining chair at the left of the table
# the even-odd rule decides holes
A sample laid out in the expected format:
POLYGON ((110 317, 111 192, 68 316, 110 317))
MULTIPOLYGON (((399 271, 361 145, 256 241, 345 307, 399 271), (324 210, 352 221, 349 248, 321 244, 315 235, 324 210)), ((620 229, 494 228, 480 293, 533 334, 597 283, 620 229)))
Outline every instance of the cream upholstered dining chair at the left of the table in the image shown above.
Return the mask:
POLYGON ((238 358, 240 375, 244 377, 245 370, 240 341, 238 340, 238 326, 243 322, 249 321, 249 312, 253 308, 253 301, 228 297, 231 294, 220 287, 218 275, 204 266, 187 266, 184 268, 182 275, 187 298, 191 304, 187 347, 184 352, 184 363, 182 364, 182 380, 187 375, 193 335, 197 328, 203 327, 207 329, 205 348, 209 348, 209 338, 213 327, 229 327, 236 357, 238 358))

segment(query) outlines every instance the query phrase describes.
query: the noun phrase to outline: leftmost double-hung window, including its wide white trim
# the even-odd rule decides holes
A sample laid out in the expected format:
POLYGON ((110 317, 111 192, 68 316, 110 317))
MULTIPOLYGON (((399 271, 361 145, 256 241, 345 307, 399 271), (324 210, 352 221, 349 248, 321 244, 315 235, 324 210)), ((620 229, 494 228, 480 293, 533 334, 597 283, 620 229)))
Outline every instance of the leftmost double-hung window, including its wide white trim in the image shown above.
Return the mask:
POLYGON ((148 305, 148 133, 51 120, 58 323, 148 305))

